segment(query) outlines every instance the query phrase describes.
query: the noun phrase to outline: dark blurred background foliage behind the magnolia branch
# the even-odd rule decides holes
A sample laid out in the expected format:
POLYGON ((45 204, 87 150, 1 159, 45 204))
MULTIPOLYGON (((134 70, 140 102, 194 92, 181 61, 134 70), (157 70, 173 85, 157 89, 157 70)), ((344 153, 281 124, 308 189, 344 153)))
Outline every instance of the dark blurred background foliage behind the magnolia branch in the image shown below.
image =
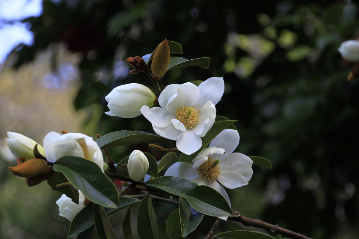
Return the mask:
MULTIPOLYGON (((250 184, 229 191, 233 210, 316 239, 359 237, 359 83, 346 80, 354 64, 337 52, 341 42, 358 37, 356 4, 44 0, 42 15, 23 22, 31 24, 34 44, 13 51, 2 66, 2 138, 7 131, 38 142, 49 131, 153 132, 143 116, 104 114, 104 97, 122 84, 150 86, 145 74, 128 74, 125 60, 151 53, 167 38, 182 45, 183 57, 211 62, 208 70, 167 72, 162 88, 224 77, 216 109, 238 120, 237 150, 272 162, 273 170, 253 166, 250 184)), ((46 182, 28 188, 10 175, 15 161, 2 145, 8 160, 0 160, 0 238, 66 238, 69 222, 57 216, 55 204, 61 195, 46 182)), ((120 160, 134 148, 111 155, 120 160)), ((123 214, 110 217, 118 233, 123 214)), ((168 217, 167 210, 157 214, 162 222, 168 217)), ((203 237, 213 222, 205 218, 199 234, 188 238, 203 237)), ((240 228, 222 222, 218 232, 240 228)))

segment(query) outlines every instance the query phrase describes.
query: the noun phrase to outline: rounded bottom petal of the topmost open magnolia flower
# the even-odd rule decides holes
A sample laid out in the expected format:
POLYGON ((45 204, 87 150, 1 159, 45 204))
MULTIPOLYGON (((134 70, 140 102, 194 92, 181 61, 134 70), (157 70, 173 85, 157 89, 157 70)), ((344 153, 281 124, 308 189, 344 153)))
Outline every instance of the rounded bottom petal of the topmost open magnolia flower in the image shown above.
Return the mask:
POLYGON ((202 146, 201 137, 196 135, 192 130, 181 132, 176 142, 177 149, 187 155, 195 153, 202 146))

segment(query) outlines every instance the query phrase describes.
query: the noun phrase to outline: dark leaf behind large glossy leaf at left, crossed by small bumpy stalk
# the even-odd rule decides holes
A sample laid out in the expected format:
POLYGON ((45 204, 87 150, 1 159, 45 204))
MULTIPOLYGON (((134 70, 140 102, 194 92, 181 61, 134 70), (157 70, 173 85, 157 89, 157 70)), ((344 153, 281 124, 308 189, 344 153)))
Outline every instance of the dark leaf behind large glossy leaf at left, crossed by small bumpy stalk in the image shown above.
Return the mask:
POLYGON ((56 185, 58 184, 67 182, 69 182, 69 180, 67 180, 65 175, 60 172, 55 172, 55 174, 51 178, 47 179, 47 184, 51 187, 52 190, 64 193, 67 197, 71 198, 71 201, 76 204, 79 204, 79 191, 72 185, 71 187, 65 188, 56 187, 56 185))

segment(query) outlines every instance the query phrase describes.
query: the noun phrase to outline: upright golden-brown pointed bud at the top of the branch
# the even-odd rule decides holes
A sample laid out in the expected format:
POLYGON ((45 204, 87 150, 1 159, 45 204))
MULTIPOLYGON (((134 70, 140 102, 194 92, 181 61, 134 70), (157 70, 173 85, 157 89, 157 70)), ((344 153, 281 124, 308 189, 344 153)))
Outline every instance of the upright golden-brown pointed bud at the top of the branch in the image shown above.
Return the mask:
POLYGON ((156 52, 153 55, 151 70, 152 74, 160 78, 166 73, 170 60, 170 52, 167 39, 159 44, 156 52))

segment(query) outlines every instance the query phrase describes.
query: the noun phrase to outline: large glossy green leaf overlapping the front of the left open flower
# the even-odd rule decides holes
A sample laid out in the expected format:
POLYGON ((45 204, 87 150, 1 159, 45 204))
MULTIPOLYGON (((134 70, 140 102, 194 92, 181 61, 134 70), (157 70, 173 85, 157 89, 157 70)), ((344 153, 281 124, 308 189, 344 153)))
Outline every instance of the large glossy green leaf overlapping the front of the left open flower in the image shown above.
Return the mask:
POLYGON ((117 207, 117 188, 94 162, 65 156, 55 161, 53 170, 63 173, 91 202, 104 207, 117 207))

